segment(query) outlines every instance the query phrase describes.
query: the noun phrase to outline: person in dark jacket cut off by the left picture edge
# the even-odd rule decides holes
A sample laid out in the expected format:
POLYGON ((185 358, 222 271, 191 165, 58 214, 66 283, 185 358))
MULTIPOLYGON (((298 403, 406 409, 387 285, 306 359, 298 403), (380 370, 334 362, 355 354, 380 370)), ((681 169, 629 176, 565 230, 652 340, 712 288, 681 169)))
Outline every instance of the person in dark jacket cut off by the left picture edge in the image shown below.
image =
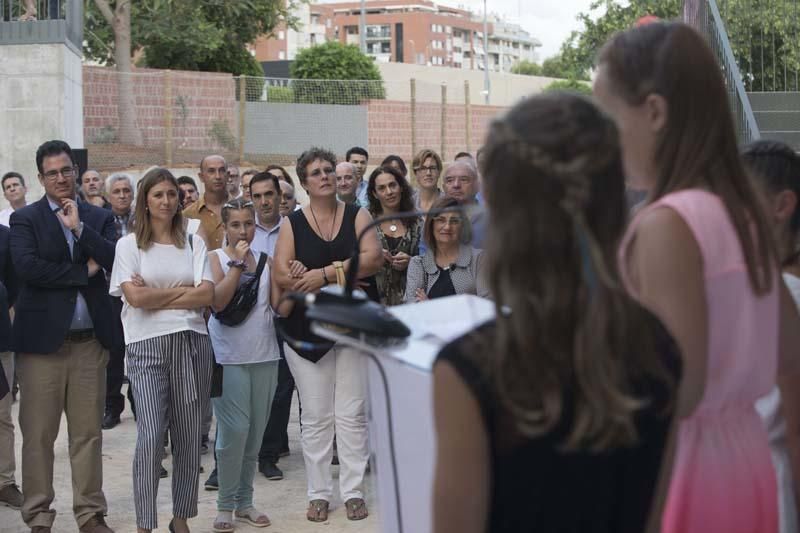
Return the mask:
POLYGON ((14 384, 14 351, 11 347, 11 317, 17 284, 11 264, 8 240, 11 231, 0 225, 0 505, 19 509, 22 493, 17 487, 14 451, 14 419, 11 417, 11 394, 14 384))

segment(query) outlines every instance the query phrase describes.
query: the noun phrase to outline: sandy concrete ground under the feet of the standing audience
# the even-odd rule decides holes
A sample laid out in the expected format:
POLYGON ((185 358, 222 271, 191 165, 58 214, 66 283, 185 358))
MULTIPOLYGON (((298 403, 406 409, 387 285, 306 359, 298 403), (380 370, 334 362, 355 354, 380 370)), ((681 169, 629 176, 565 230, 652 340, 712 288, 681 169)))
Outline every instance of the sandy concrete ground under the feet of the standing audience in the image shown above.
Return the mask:
MULTIPOLYGON (((296 399, 295 399, 296 400, 296 399)), ((14 405, 14 420, 16 424, 19 402, 14 405)), ((212 429, 213 435, 213 429, 212 429)), ((297 401, 292 404, 292 418, 289 422, 289 448, 291 455, 280 460, 280 468, 284 472, 282 481, 268 481, 264 476, 256 473, 255 500, 256 506, 266 512, 272 520, 272 525, 265 529, 254 528, 246 524, 237 524, 237 532, 263 531, 265 533, 366 533, 379 531, 377 504, 375 502, 374 476, 367 476, 367 505, 370 516, 360 522, 347 520, 345 510, 338 495, 334 496, 329 520, 315 524, 305 518, 306 509, 306 477, 303 466, 303 457, 300 450, 299 423, 297 415, 297 401)), ((108 500, 107 521, 116 533, 135 533, 136 516, 133 509, 133 487, 131 483, 131 464, 133 462, 133 449, 136 443, 136 424, 127 409, 122 414, 122 423, 116 428, 103 432, 103 477, 104 491, 108 500)), ((17 457, 17 482, 21 481, 20 450, 22 436, 17 428, 16 457, 17 457)), ((202 483, 214 467, 214 458, 211 453, 202 456, 205 474, 200 474, 200 494, 198 515, 189 521, 193 532, 210 532, 211 525, 216 516, 216 492, 203 490, 202 483)), ((164 466, 171 471, 170 457, 164 461, 164 466)), ((338 467, 332 467, 334 474, 335 494, 338 494, 338 467)), ((162 479, 158 494, 159 527, 157 531, 167 531, 167 525, 172 515, 170 496, 170 477, 162 479)), ((56 441, 56 460, 54 488, 56 499, 54 507, 58 512, 53 527, 54 533, 76 532, 77 525, 72 517, 72 489, 70 481, 69 456, 67 453, 67 428, 66 420, 62 420, 61 431, 56 441)), ((28 528, 20 517, 19 511, 7 507, 0 507, 0 533, 27 532, 28 528)))

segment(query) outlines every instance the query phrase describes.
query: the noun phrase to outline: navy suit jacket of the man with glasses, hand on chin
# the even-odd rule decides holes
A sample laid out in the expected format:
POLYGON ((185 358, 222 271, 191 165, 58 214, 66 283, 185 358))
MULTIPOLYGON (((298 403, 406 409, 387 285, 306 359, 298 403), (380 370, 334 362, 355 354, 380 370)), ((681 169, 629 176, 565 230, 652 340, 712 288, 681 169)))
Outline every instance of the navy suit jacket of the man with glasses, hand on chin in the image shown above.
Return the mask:
POLYGON ((64 231, 47 197, 11 215, 11 258, 20 279, 13 342, 17 352, 53 353, 64 343, 78 291, 86 300, 97 340, 111 346, 112 313, 103 271, 91 278, 91 257, 106 270, 114 264, 116 230, 111 212, 78 202, 83 232, 70 256, 64 231))

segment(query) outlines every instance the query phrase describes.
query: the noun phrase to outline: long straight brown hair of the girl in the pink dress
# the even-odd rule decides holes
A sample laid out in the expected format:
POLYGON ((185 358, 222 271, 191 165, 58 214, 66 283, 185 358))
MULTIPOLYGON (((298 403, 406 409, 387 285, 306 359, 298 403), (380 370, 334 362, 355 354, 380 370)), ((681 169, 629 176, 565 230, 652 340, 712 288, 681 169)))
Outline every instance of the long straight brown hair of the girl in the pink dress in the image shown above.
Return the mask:
POLYGON ((714 54, 691 27, 656 22, 616 34, 600 51, 612 86, 630 105, 661 95, 668 106, 659 168, 649 200, 708 188, 731 217, 756 294, 772 288, 778 264, 759 195, 739 157, 725 81, 714 54))

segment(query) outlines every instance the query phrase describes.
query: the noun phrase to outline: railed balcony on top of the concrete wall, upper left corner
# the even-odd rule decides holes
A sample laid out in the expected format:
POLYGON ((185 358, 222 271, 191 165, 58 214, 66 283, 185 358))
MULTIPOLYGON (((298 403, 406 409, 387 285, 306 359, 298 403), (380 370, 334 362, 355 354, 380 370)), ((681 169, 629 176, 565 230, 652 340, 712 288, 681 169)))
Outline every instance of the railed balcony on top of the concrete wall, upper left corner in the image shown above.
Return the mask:
POLYGON ((22 0, 0 0, 0 45, 66 44, 83 54, 83 3, 79 0, 40 0, 37 20, 17 20, 22 0))

